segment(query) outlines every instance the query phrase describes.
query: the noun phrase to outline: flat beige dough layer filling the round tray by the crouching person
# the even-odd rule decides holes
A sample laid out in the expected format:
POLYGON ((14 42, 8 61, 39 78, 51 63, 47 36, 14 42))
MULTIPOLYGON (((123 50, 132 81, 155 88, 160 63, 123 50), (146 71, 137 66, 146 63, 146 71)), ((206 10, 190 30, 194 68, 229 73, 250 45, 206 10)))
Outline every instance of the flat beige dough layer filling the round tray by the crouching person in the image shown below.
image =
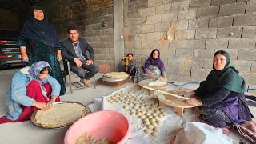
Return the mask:
POLYGON ((86 114, 86 107, 77 103, 54 104, 49 110, 38 110, 35 122, 46 128, 70 126, 86 114))

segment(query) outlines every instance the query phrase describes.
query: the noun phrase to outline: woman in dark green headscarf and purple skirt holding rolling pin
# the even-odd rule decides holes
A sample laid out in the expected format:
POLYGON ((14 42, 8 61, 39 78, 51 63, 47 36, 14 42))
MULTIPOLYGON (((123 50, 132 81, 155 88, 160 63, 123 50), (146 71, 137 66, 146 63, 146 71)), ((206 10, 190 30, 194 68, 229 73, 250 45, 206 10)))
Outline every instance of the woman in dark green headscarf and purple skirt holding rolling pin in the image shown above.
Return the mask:
MULTIPOLYGON (((246 82, 238 75, 238 70, 230 66, 230 55, 226 51, 220 50, 214 54, 213 69, 197 90, 185 94, 190 97, 185 102, 199 106, 202 119, 222 128, 223 133, 227 133, 230 127, 240 129, 246 126, 256 134, 252 121, 254 117, 244 95, 246 82)), ((256 142, 254 134, 250 135, 250 140, 256 142)))

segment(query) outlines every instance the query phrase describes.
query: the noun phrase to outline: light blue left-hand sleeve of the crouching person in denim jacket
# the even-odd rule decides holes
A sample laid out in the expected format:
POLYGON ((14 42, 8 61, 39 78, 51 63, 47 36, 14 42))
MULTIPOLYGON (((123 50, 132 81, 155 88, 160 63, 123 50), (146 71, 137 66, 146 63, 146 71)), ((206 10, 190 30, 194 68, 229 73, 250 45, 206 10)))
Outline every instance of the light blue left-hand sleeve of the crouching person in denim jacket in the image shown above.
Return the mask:
POLYGON ((32 106, 35 100, 26 95, 27 82, 29 80, 25 74, 15 74, 11 83, 11 98, 23 106, 32 106))

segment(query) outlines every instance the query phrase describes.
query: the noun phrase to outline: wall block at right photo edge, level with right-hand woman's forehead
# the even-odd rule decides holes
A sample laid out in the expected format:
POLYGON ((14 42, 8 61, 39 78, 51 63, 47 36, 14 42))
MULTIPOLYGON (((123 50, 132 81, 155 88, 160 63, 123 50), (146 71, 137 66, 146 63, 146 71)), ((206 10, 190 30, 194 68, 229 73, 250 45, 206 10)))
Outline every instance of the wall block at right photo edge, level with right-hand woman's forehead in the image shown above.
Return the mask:
POLYGON ((239 50, 238 61, 256 61, 256 50, 239 50))

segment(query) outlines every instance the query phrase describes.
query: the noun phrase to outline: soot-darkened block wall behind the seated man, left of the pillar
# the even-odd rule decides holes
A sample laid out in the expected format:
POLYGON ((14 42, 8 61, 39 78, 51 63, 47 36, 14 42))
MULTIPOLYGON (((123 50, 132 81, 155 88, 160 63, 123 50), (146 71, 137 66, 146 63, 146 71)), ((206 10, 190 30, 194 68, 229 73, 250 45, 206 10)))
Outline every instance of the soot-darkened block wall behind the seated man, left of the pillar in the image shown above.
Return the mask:
POLYGON ((94 63, 110 64, 114 71, 113 0, 56 0, 46 1, 44 6, 61 40, 69 38, 67 27, 77 26, 80 38, 94 48, 94 63))

